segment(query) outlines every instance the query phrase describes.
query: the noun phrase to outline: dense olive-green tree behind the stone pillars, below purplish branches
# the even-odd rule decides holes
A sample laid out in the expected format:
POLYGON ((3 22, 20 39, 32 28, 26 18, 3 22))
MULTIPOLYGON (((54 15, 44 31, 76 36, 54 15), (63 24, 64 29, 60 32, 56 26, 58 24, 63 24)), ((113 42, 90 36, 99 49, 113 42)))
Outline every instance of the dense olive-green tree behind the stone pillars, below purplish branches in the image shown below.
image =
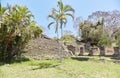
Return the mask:
POLYGON ((101 49, 112 44, 112 36, 109 34, 109 27, 105 27, 103 22, 103 19, 96 23, 84 21, 80 23, 79 29, 82 33, 82 41, 85 43, 89 42, 91 46, 98 46, 100 48, 100 55, 105 55, 105 52, 101 49))

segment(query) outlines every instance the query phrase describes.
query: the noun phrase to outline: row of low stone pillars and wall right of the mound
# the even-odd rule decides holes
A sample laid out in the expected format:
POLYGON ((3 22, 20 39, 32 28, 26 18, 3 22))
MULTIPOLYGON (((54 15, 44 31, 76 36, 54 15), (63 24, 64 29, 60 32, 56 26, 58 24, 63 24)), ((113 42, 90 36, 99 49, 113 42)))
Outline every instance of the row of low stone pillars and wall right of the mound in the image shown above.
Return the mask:
POLYGON ((120 48, 119 47, 113 47, 113 48, 91 47, 89 49, 89 51, 88 51, 88 49, 85 50, 85 47, 80 47, 79 56, 85 55, 86 51, 87 51, 89 56, 93 56, 93 55, 114 56, 114 57, 119 57, 120 56, 120 48))

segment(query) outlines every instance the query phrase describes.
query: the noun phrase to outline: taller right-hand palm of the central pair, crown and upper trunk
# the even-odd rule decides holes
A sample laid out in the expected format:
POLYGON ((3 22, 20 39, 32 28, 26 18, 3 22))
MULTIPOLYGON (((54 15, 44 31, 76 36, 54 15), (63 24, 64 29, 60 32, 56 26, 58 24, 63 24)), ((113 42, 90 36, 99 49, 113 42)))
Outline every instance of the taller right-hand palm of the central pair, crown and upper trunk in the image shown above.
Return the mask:
MULTIPOLYGON (((57 10, 56 10, 57 11, 57 10)), ((70 5, 64 5, 62 0, 58 1, 58 14, 59 14, 59 22, 60 22, 60 29, 61 29, 61 37, 63 36, 63 25, 66 26, 67 23, 67 16, 72 17, 74 20, 73 14, 75 10, 70 5)))

